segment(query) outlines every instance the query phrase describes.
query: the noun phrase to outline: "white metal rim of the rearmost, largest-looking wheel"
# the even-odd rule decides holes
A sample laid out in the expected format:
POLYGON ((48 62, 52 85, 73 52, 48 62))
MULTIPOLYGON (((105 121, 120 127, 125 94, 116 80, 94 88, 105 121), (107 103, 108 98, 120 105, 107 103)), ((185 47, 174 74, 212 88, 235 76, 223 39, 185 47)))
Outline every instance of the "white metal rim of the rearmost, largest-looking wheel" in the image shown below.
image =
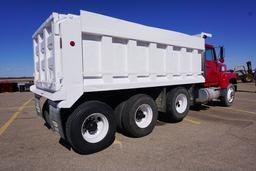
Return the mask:
POLYGON ((101 113, 93 113, 86 117, 82 126, 81 134, 85 141, 89 143, 97 143, 103 140, 109 130, 109 122, 106 116, 101 113), (96 129, 93 131, 88 130, 88 124, 96 124, 96 129))

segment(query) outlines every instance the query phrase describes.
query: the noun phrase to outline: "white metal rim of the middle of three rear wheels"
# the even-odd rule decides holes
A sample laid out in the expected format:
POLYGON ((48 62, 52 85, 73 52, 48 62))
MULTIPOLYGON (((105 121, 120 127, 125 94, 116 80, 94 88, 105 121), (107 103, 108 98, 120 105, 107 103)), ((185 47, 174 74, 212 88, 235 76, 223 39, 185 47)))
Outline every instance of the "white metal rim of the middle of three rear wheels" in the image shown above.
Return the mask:
POLYGON ((153 110, 150 105, 140 105, 134 115, 135 123, 139 128, 146 128, 150 125, 153 119, 153 110), (138 118, 138 115, 143 114, 142 118, 138 118))

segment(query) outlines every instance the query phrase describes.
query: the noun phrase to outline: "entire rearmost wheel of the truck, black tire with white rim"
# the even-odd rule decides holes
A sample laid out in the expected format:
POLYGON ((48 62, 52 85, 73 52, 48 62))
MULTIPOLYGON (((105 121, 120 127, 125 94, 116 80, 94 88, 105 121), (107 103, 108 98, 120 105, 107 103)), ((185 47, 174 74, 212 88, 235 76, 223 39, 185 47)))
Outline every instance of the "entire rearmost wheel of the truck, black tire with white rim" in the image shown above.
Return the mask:
POLYGON ((88 101, 72 112, 66 122, 66 137, 80 154, 91 154, 110 146, 115 138, 113 110, 105 103, 88 101))

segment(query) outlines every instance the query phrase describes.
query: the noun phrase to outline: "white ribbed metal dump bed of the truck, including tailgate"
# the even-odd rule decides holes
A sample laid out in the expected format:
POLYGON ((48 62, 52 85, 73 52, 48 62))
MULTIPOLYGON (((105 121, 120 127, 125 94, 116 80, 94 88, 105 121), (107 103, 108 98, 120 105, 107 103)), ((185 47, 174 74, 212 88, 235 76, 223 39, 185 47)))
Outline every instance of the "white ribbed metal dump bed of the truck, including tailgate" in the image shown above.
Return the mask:
POLYGON ((204 39, 179 32, 81 11, 54 13, 33 42, 31 90, 62 107, 83 92, 204 82, 204 39))

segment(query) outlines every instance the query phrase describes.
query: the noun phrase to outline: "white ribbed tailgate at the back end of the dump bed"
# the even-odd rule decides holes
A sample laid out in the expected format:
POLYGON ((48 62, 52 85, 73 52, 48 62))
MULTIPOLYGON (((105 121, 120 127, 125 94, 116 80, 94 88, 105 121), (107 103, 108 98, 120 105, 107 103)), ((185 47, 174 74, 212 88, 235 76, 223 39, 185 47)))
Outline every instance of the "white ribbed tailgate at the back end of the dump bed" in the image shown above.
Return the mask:
POLYGON ((34 33, 34 82, 36 88, 49 92, 61 88, 61 39, 59 23, 64 15, 53 13, 34 33))

